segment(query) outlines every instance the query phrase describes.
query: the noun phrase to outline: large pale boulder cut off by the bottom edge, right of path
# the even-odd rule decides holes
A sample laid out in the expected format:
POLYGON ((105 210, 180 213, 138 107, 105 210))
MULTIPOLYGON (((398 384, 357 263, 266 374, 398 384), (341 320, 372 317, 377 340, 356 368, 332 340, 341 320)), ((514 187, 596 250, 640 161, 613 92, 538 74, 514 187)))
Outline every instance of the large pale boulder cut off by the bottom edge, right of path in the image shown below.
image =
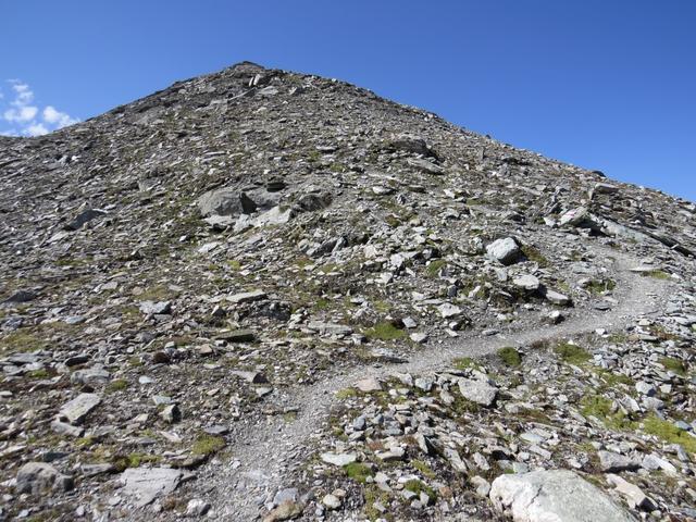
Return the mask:
POLYGON ((599 488, 568 470, 500 475, 490 500, 514 522, 635 522, 599 488))

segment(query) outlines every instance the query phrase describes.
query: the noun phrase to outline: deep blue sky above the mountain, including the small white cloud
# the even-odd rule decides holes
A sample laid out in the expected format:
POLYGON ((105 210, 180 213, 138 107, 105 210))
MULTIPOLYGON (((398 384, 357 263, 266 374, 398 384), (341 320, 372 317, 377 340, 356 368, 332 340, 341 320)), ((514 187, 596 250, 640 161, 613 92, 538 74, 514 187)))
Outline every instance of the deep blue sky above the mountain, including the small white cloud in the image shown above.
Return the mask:
POLYGON ((243 60, 696 200, 696 1, 0 0, 0 132, 243 60))

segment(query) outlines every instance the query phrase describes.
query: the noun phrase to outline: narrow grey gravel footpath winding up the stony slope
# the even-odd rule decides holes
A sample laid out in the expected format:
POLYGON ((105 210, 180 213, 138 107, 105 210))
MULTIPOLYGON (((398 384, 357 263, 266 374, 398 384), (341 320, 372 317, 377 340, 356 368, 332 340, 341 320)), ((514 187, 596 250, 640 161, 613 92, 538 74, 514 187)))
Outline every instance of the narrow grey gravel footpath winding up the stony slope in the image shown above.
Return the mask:
MULTIPOLYGON (((483 357, 504 346, 523 346, 534 341, 594 332, 621 330, 636 318, 655 313, 667 297, 669 282, 644 277, 631 272, 638 260, 606 249, 592 247, 596 254, 613 258, 610 276, 617 282, 614 298, 618 304, 609 311, 577 309, 569 312, 567 321, 558 325, 538 325, 532 330, 514 331, 490 337, 481 334, 462 336, 440 345, 432 344, 411 356, 407 363, 384 363, 351 369, 346 373, 311 386, 283 390, 281 402, 299 408, 297 419, 287 422, 277 417, 249 423, 233 443, 232 462, 224 467, 201 470, 199 481, 216 486, 213 509, 221 520, 256 520, 259 507, 269 493, 289 487, 284 482, 285 470, 295 461, 311 453, 312 437, 321 433, 328 419, 331 406, 338 402, 336 391, 368 376, 387 377, 394 373, 421 374, 446 369, 458 357, 483 357)), ((244 421, 241 421, 244 422, 244 421)))

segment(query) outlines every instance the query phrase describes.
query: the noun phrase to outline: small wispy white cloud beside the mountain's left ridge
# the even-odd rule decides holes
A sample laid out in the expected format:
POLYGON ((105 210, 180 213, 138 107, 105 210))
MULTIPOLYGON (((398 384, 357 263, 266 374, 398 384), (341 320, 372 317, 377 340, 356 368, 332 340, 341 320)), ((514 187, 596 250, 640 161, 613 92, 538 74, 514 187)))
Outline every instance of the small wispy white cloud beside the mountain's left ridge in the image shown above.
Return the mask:
MULTIPOLYGON (((39 110, 39 105, 34 102, 34 91, 27 84, 18 79, 9 79, 8 83, 13 99, 4 103, 4 110, 0 110, 0 120, 12 124, 12 128, 0 130, 0 135, 40 136, 79 122, 53 105, 46 105, 44 110, 39 110)), ((0 100, 3 99, 4 96, 0 92, 0 100)), ((0 109, 2 104, 0 101, 0 109)))

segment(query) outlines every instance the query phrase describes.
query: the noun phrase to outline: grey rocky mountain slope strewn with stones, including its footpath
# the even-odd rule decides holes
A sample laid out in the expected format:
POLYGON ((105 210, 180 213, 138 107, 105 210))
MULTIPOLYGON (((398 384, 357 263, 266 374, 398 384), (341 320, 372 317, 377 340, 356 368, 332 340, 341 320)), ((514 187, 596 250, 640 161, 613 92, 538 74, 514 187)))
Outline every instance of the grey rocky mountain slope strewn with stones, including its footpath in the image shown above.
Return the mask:
POLYGON ((693 202, 241 63, 0 215, 4 519, 696 517, 693 202))

